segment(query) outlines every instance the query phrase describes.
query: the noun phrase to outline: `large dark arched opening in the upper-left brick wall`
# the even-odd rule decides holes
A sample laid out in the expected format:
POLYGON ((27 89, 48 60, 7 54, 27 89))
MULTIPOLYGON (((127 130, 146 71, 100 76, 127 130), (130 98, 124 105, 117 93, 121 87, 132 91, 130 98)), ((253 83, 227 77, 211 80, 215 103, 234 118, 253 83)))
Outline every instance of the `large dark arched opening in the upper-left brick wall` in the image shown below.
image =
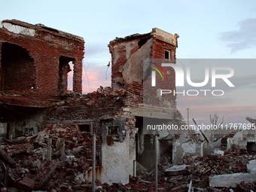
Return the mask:
POLYGON ((0 90, 29 90, 35 87, 34 59, 23 47, 3 43, 0 90))

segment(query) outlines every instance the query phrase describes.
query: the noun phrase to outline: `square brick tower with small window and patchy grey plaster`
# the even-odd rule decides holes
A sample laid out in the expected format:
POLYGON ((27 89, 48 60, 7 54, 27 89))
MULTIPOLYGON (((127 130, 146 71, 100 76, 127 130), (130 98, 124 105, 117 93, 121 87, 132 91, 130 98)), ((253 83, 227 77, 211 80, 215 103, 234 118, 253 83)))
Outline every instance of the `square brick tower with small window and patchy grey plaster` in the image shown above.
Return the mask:
MULTIPOLYGON (((175 94, 160 96, 157 90, 175 91, 175 72, 172 67, 164 67, 166 77, 161 79, 156 75, 156 87, 151 86, 151 68, 153 62, 161 66, 163 62, 175 63, 175 51, 178 35, 171 35, 160 29, 154 28, 151 33, 145 35, 130 35, 126 38, 116 38, 108 44, 111 53, 112 74, 111 87, 113 90, 127 88, 127 84, 139 82, 143 84, 143 90, 139 90, 144 96, 144 103, 163 107, 169 101, 169 108, 175 109, 175 94), (165 52, 169 52, 169 58, 165 59, 165 52), (156 94, 157 93, 157 94, 156 94)), ((133 87, 136 89, 136 87, 133 87)), ((139 94, 138 94, 139 95, 139 94)))

